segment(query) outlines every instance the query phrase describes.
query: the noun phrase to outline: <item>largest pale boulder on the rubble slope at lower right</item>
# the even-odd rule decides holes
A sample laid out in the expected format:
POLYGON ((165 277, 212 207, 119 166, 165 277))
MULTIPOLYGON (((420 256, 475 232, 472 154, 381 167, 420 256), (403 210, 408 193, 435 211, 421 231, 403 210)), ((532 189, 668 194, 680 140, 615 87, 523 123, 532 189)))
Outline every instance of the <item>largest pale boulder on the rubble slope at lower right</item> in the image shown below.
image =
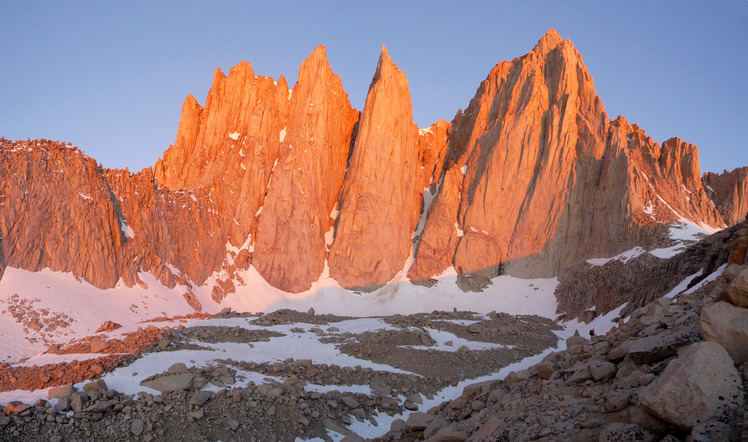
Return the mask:
POLYGON ((690 429, 742 406, 743 394, 730 355, 704 341, 683 348, 659 378, 639 391, 639 402, 659 418, 690 429))

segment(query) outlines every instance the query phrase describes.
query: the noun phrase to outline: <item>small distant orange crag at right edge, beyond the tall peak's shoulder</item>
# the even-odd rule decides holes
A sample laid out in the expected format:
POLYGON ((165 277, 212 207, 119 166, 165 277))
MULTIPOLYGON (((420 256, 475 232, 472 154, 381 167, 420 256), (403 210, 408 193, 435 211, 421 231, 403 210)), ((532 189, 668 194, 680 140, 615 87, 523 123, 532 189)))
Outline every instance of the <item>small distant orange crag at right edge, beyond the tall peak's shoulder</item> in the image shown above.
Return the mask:
POLYGON ((748 216, 748 167, 738 167, 731 172, 725 170, 721 174, 708 172, 701 181, 728 225, 748 216))

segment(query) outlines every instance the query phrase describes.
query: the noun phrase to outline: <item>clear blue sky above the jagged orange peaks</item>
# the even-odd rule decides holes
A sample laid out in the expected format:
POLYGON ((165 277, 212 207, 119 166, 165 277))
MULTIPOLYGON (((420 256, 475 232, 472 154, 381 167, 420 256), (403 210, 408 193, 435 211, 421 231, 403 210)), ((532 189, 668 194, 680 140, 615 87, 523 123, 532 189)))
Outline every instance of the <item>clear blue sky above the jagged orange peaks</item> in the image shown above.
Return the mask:
POLYGON ((139 170, 174 142, 185 96, 241 60, 293 84, 327 46, 363 107, 382 44, 416 123, 451 120, 499 61, 571 39, 609 117, 679 136, 702 171, 748 165, 748 1, 3 1, 0 136, 70 141, 139 170))

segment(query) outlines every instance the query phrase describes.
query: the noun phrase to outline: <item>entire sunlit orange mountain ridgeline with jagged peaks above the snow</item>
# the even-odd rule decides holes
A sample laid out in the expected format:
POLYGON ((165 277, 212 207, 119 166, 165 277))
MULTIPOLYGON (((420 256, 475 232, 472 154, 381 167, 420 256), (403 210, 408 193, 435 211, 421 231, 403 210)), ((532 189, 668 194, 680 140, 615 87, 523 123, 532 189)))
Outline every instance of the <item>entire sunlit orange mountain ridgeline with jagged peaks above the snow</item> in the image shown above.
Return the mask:
POLYGON ((293 89, 247 62, 217 69, 205 106, 189 95, 174 145, 137 173, 0 139, 0 277, 49 267, 109 288, 151 272, 199 309, 192 288, 218 275, 220 302, 249 266, 288 292, 328 271, 346 288, 451 267, 551 276, 748 210, 748 168, 701 177, 696 146, 610 120, 554 30, 451 123, 419 130, 412 113, 385 48, 358 112, 318 47, 293 89))

